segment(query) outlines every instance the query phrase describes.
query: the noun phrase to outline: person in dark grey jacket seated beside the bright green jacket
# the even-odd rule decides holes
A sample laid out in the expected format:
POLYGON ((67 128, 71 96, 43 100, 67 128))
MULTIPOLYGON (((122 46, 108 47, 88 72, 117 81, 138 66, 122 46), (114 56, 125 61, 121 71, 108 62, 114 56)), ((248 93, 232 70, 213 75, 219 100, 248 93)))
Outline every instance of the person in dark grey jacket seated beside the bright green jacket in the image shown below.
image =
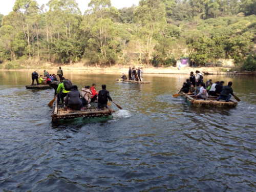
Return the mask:
POLYGON ((65 109, 67 109, 68 106, 69 108, 74 110, 83 110, 83 102, 82 99, 80 99, 80 92, 78 91, 77 86, 72 86, 71 91, 67 94, 65 98, 65 109))

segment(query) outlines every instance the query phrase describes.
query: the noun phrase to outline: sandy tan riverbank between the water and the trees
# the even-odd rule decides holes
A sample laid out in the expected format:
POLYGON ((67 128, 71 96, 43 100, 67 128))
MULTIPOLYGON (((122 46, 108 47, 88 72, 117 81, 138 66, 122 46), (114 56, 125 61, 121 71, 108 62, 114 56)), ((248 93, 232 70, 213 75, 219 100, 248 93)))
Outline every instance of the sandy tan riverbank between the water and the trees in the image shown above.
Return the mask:
POLYGON ((64 64, 60 65, 59 63, 40 63, 40 65, 21 65, 24 69, 18 70, 47 70, 49 73, 57 73, 58 67, 61 67, 63 72, 65 71, 83 71, 84 73, 105 73, 105 74, 127 74, 129 71, 129 67, 143 67, 143 71, 145 74, 190 74, 191 71, 194 73, 196 70, 204 73, 205 75, 255 75, 256 72, 249 72, 249 71, 233 71, 232 68, 228 67, 182 67, 178 70, 177 67, 152 67, 152 66, 145 66, 139 64, 132 64, 132 65, 114 65, 112 67, 101 65, 87 65, 85 63, 72 63, 72 64, 64 64))

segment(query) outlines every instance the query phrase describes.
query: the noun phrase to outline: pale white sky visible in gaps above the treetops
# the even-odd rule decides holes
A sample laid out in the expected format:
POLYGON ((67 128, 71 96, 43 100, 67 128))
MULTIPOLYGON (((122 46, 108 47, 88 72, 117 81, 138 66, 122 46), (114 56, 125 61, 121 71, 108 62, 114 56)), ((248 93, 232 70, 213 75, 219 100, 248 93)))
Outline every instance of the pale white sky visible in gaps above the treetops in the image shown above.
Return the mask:
MULTIPOLYGON (((16 0, 0 0, 0 13, 3 15, 8 15, 14 6, 14 3, 16 0)), ((36 0, 39 6, 42 4, 47 4, 49 0, 36 0)), ((78 3, 78 7, 81 10, 82 14, 87 9, 87 5, 90 3, 90 0, 76 0, 76 3, 78 3)), ((132 5, 139 5, 139 0, 111 0, 111 5, 114 6, 117 9, 123 8, 123 7, 131 7, 132 5)), ((47 6, 46 6, 47 7, 47 6)))

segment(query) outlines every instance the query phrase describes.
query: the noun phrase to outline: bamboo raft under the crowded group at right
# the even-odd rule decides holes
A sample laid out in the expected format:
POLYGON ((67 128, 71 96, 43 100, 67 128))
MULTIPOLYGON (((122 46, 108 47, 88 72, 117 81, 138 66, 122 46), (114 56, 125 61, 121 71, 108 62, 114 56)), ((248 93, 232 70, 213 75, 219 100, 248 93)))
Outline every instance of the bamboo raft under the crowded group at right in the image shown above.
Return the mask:
POLYGON ((181 97, 192 106, 229 106, 229 107, 235 107, 237 106, 238 102, 229 100, 229 102, 226 102, 225 100, 219 100, 217 101, 216 96, 209 96, 207 99, 196 99, 195 95, 181 95, 181 97))

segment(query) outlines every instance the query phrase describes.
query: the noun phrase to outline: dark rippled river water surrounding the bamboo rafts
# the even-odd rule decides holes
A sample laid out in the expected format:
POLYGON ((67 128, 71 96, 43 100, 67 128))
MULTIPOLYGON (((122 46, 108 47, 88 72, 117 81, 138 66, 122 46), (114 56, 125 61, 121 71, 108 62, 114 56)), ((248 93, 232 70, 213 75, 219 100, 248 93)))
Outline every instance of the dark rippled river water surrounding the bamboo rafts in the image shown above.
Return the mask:
POLYGON ((54 90, 27 90, 31 72, 0 71, 2 191, 256 191, 255 77, 206 76, 233 81, 241 101, 193 108, 172 96, 188 75, 139 85, 64 71, 79 88, 106 84, 123 110, 53 126, 54 90))

